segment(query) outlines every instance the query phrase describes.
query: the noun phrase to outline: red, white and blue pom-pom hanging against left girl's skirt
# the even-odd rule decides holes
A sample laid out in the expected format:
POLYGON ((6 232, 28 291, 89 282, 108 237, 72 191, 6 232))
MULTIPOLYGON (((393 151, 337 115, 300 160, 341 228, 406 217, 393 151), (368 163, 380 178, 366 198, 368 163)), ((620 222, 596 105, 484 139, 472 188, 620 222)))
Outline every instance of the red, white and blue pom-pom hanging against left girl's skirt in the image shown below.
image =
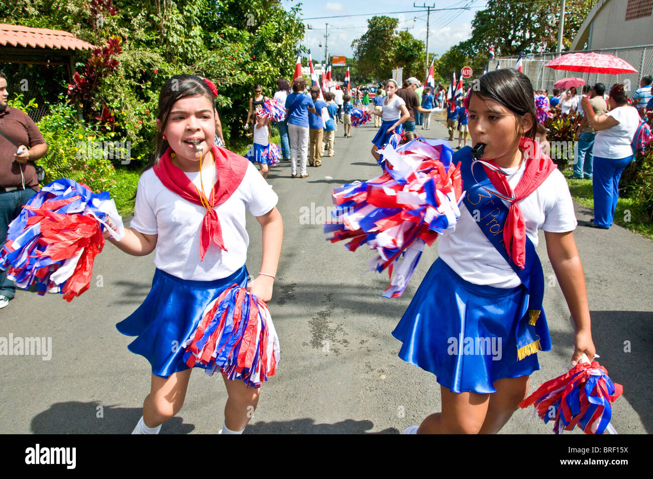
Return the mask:
POLYGON ((243 380, 255 388, 274 376, 279 363, 279 338, 270 311, 237 284, 206 307, 182 347, 188 367, 202 365, 209 375, 219 368, 229 380, 243 380))

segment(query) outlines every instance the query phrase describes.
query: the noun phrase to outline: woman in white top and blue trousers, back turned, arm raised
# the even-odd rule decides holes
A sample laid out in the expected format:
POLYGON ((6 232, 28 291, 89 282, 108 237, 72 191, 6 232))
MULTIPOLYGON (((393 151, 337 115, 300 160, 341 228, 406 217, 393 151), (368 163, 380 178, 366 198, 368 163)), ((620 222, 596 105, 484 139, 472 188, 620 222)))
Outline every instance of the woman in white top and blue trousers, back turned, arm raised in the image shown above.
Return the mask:
POLYGON ((590 100, 583 97, 581 105, 588 124, 598 133, 594 139, 594 218, 592 226, 608 229, 614 219, 614 209, 619 198, 619 179, 624 168, 633 159, 631 142, 639 126, 639 113, 628 106, 628 93, 622 84, 610 90, 609 112, 597 116, 590 100))

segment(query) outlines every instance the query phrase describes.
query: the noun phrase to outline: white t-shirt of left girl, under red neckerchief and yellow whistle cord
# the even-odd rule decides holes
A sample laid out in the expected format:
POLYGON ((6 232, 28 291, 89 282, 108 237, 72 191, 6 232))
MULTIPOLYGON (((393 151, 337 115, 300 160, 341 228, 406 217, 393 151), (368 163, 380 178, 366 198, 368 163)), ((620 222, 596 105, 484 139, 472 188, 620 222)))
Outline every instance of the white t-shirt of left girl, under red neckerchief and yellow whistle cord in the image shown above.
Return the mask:
MULTIPOLYGON (((186 173, 186 176, 200 188, 199 172, 186 173)), ((202 181, 205 190, 208 190, 211 180, 211 169, 204 168, 202 181)), ((200 261, 200 227, 206 210, 168 190, 153 169, 149 169, 138 180, 134 218, 130 226, 144 235, 159 235, 154 254, 157 268, 184 280, 212 281, 226 278, 245 264, 249 245, 245 210, 254 216, 263 216, 276 206, 277 201, 272 186, 249 163, 238 189, 227 201, 215 207, 227 252, 211 242, 204 261, 200 261)))

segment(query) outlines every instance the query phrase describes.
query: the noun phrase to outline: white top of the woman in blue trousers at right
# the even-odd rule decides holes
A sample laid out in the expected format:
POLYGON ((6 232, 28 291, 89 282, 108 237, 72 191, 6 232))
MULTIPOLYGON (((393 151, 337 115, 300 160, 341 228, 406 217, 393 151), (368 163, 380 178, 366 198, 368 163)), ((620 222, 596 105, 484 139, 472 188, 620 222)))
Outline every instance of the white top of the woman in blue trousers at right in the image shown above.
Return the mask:
POLYGON ((606 113, 618 121, 612 128, 598 131, 592 154, 602 158, 625 158, 633 154, 631 143, 639 126, 639 113, 633 107, 616 107, 606 113))

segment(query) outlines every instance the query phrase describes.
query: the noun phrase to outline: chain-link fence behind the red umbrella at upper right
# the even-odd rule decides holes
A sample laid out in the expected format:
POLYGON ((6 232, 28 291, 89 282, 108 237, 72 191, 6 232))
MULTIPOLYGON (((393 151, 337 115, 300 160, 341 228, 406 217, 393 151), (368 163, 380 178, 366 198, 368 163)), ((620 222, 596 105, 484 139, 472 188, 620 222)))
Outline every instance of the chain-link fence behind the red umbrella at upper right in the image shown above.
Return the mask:
MULTIPOLYGON (((535 90, 547 88, 549 93, 551 93, 553 84, 558 80, 562 80, 562 78, 566 78, 567 76, 577 76, 585 80, 585 83, 588 85, 594 85, 597 82, 601 82, 605 84, 605 87, 608 90, 615 83, 623 83, 631 97, 635 93, 635 90, 639 88, 639 79, 642 78, 642 76, 653 74, 653 44, 620 48, 602 48, 600 50, 578 50, 577 52, 562 53, 590 52, 609 54, 621 58, 633 65, 639 73, 620 73, 613 75, 605 73, 581 73, 575 71, 554 70, 544 66, 546 63, 549 63, 549 61, 558 56, 555 52, 549 52, 540 55, 524 56, 522 58, 524 74, 530 78, 535 90)), ((500 68, 515 68, 517 56, 494 58, 490 60, 489 69, 494 70, 498 62, 501 63, 500 68)))

